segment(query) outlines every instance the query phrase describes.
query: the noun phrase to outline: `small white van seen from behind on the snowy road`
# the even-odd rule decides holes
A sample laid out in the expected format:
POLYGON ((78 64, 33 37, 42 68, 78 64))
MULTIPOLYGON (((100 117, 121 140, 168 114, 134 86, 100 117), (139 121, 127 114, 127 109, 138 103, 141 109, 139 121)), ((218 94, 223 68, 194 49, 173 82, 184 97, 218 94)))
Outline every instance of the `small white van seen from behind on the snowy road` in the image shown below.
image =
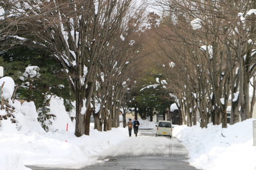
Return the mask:
POLYGON ((157 132, 156 136, 169 136, 170 138, 173 136, 173 125, 170 121, 160 120, 156 125, 157 132))

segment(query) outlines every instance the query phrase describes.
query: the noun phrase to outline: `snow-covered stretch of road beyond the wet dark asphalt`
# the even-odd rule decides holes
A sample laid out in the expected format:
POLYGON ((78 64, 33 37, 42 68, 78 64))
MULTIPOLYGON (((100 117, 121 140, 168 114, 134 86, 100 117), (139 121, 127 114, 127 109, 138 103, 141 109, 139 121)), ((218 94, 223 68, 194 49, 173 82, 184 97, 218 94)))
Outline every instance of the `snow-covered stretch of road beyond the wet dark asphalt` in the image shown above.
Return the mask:
POLYGON ((127 140, 111 147, 102 153, 101 159, 112 157, 142 157, 142 156, 187 156, 185 147, 176 139, 155 137, 155 130, 139 130, 138 137, 132 136, 127 140))

